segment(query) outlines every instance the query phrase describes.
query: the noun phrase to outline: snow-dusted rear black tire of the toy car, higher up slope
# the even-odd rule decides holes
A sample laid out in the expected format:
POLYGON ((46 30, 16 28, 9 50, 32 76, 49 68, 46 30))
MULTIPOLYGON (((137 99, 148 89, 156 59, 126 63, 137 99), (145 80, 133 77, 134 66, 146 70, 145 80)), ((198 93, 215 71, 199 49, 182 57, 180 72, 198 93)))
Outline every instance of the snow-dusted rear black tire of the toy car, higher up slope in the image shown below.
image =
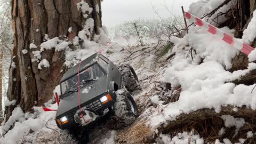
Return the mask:
POLYGON ((122 85, 125 86, 129 92, 136 90, 139 86, 139 79, 132 66, 130 64, 122 64, 118 69, 122 75, 122 85))

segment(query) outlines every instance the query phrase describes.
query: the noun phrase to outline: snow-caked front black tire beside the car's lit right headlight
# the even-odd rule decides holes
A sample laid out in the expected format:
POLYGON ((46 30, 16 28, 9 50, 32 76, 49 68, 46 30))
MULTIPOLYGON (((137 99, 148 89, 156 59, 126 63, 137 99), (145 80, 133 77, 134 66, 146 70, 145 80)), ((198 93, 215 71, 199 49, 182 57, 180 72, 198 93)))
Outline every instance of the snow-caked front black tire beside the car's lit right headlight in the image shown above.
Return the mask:
POLYGON ((116 102, 114 105, 115 116, 119 124, 117 127, 125 127, 132 124, 139 116, 138 107, 131 94, 126 90, 116 92, 116 102))

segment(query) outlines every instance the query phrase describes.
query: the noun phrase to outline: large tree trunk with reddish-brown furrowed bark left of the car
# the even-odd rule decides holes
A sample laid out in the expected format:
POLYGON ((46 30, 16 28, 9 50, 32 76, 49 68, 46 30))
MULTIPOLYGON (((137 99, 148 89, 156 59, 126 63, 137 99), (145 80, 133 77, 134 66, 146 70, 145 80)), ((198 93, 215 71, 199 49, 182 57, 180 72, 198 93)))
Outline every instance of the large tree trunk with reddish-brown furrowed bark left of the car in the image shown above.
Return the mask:
MULTIPOLYGON (((83 0, 82 0, 83 1, 83 0)), ((38 62, 31 62, 33 51, 40 51, 40 45, 47 34, 49 38, 68 36, 71 41, 83 29, 88 18, 94 19, 93 34, 99 34, 101 27, 101 0, 86 0, 93 8, 89 16, 78 11, 80 0, 12 0, 12 27, 14 31, 13 59, 16 67, 10 66, 7 97, 17 100, 25 111, 32 111, 35 105, 42 106, 52 98, 52 91, 59 84, 64 70, 65 51, 44 50, 41 55, 50 63, 49 68, 38 69, 38 62), (99 12, 95 9, 99 5, 99 12), (69 27, 72 32, 68 33, 69 27), (29 49, 34 43, 37 49, 29 49), (23 54, 22 50, 28 50, 23 54)), ((9 118, 15 106, 6 107, 9 118)))

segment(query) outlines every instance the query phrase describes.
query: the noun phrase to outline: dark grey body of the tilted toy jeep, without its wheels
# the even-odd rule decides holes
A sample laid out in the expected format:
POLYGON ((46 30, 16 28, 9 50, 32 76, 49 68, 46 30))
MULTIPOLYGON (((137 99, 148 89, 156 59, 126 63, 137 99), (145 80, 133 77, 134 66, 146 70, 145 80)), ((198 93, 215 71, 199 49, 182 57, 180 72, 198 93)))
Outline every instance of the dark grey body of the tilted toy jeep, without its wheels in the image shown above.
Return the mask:
POLYGON ((115 91, 122 85, 122 75, 113 62, 95 53, 83 60, 79 69, 81 109, 78 100, 78 65, 70 68, 60 82, 61 100, 56 123, 62 130, 75 125, 87 125, 111 111, 116 101, 115 91))

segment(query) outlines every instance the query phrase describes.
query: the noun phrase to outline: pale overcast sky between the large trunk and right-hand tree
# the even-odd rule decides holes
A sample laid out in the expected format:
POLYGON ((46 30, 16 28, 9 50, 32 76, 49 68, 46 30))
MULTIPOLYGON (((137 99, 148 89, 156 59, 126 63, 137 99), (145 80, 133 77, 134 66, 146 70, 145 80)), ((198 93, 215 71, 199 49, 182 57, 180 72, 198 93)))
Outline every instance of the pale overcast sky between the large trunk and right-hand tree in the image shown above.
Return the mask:
POLYGON ((104 0, 102 2, 102 21, 105 26, 141 19, 158 18, 151 3, 161 17, 170 17, 165 3, 173 14, 181 15, 181 6, 188 10, 190 3, 198 0, 104 0), (151 3, 150 3, 151 2, 151 3))

